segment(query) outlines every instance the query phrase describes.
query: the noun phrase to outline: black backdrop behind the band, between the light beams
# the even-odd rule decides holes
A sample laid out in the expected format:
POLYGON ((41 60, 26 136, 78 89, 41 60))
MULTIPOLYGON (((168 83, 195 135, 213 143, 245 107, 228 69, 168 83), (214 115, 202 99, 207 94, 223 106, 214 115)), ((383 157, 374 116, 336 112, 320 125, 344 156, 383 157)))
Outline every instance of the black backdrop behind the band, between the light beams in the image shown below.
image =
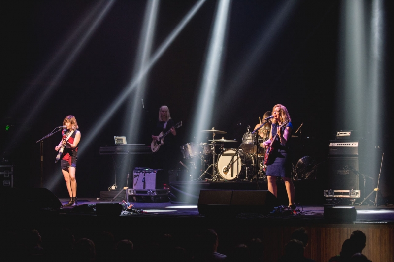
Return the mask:
MULTIPOLYGON (((93 143, 86 145, 84 139, 130 81, 146 2, 116 1, 62 78, 53 80, 67 55, 58 58, 50 70, 42 71, 98 3, 57 0, 1 3, 0 156, 3 164, 15 166, 15 187, 39 187, 42 182, 58 197, 67 196, 60 165, 54 163, 54 147, 60 141, 60 133, 44 140, 42 175, 40 144, 36 141, 62 125, 64 117, 70 114, 76 116, 82 134, 79 148, 83 148, 83 153, 79 155, 77 169, 78 196, 99 196, 100 191, 114 184, 114 170, 118 172, 116 183, 124 186, 125 175, 119 174, 119 166, 127 164, 128 159, 114 157, 114 167, 112 156, 99 155, 99 147, 113 144, 113 136, 124 135, 122 130, 130 117, 126 113, 129 100, 100 130, 95 130, 98 135, 93 143), (39 81, 33 83, 38 76, 39 81), (47 87, 53 89, 45 96, 47 87), (37 104, 39 111, 30 115, 37 104), (6 125, 10 126, 8 131, 5 131, 6 125)), ((153 53, 195 3, 161 1, 153 53)), ((206 129, 215 127, 226 131, 223 135, 226 139, 240 143, 248 125, 253 128, 265 111, 281 103, 289 110, 294 131, 303 124, 300 136, 294 138, 294 162, 303 156, 312 156, 317 163, 322 163, 319 176, 323 182, 328 175, 328 141, 334 138, 336 131, 352 128, 346 123, 337 123, 335 116, 336 97, 343 88, 338 86, 341 1, 297 1, 283 26, 262 42, 263 55, 241 76, 239 83, 234 83, 234 76, 250 50, 285 3, 287 1, 232 1, 222 75, 214 97, 212 123, 207 123, 206 129)), ((368 6, 371 1, 366 3, 368 6)), ((150 130, 156 123, 159 108, 167 105, 174 121, 183 121, 182 128, 177 130, 176 148, 192 142, 195 112, 201 111, 195 106, 216 4, 214 0, 206 1, 151 68, 141 111, 142 132, 128 141, 149 145, 150 130)), ((381 101, 384 111, 378 117, 385 119, 385 125, 379 129, 380 134, 358 130, 361 141, 371 136, 378 136, 382 141, 385 158, 380 188, 388 198, 393 197, 390 167, 393 140, 389 129, 393 112, 390 100, 393 7, 392 1, 384 1, 386 38, 382 82, 386 100, 381 101)), ((207 139, 211 137, 208 135, 207 139)), ((236 148, 239 143, 226 147, 236 148)), ((377 177, 379 170, 369 170, 368 161, 377 159, 380 164, 381 151, 371 146, 365 149, 363 152, 367 154, 359 156, 359 170, 377 177)), ((176 151, 173 158, 174 168, 182 168, 177 164, 182 160, 181 152, 176 151)), ((149 165, 149 156, 136 157, 134 166, 141 165, 149 165)), ((371 189, 372 185, 366 191, 371 189)))

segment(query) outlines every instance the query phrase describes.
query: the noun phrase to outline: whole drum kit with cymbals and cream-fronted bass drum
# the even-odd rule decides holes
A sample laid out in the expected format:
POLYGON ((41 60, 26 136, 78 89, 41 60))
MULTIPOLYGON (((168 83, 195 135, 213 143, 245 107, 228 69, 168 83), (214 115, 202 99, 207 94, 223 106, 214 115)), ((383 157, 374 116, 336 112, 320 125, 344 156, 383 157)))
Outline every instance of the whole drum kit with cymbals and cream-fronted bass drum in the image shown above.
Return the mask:
POLYGON ((237 142, 222 137, 215 139, 216 134, 226 134, 227 132, 216 130, 214 127, 210 130, 201 132, 212 134, 210 143, 187 143, 181 146, 183 158, 188 162, 194 162, 196 159, 201 160, 201 172, 205 169, 196 180, 211 181, 230 181, 241 179, 251 181, 252 179, 266 180, 263 171, 263 160, 265 150, 263 142, 269 138, 269 129, 263 126, 260 131, 263 137, 256 133, 246 132, 242 137, 242 143, 238 148, 226 149, 224 143, 237 142), (216 153, 216 147, 219 147, 219 153, 216 153), (217 158, 217 159, 216 159, 217 158), (211 162, 212 160, 212 162, 211 162), (211 164, 210 164, 211 163, 211 164))

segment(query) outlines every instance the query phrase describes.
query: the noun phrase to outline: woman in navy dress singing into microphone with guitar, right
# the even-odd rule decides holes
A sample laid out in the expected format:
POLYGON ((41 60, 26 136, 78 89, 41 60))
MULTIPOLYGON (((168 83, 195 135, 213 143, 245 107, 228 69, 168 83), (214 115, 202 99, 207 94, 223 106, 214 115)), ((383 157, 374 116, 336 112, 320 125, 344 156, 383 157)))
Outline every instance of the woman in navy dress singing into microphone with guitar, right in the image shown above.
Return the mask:
POLYGON ((269 139, 263 142, 266 152, 268 191, 277 196, 276 178, 281 177, 285 182, 289 208, 296 209, 294 202, 295 188, 291 178, 291 158, 289 157, 289 140, 292 137, 292 120, 287 108, 277 104, 272 108, 273 118, 269 139), (287 122, 287 123, 286 123, 287 122), (267 154, 268 153, 268 154, 267 154))

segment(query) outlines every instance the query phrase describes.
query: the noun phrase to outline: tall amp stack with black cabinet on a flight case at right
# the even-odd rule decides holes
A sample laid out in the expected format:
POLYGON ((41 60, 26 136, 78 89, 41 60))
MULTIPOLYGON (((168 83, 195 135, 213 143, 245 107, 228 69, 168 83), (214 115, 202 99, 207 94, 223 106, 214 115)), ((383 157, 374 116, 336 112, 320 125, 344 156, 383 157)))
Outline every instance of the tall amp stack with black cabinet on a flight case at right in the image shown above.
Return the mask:
POLYGON ((328 189, 324 196, 331 202, 342 198, 352 203, 360 198, 359 190, 359 142, 352 140, 352 131, 338 131, 336 139, 329 141, 328 189))

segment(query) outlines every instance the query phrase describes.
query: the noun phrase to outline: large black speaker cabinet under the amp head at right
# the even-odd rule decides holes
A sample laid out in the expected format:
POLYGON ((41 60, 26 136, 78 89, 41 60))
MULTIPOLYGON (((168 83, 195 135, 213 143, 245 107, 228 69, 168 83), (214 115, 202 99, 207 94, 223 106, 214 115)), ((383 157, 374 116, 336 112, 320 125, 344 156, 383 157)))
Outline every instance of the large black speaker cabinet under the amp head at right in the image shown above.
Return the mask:
POLYGON ((329 157, 329 188, 333 190, 359 190, 358 157, 329 157))

